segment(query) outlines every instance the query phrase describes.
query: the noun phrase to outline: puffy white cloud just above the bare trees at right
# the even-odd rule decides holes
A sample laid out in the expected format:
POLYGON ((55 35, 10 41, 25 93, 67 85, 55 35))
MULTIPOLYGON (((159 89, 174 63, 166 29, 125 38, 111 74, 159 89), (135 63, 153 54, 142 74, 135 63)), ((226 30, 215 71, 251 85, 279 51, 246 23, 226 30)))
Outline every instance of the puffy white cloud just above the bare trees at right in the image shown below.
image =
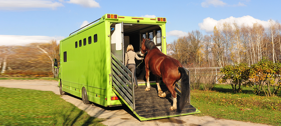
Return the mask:
POLYGON ((218 23, 224 23, 224 22, 233 23, 234 21, 238 24, 238 26, 241 26, 242 24, 252 26, 253 23, 256 22, 262 24, 265 28, 269 26, 269 20, 264 21, 264 20, 256 19, 249 15, 242 16, 242 17, 230 16, 228 18, 220 19, 220 20, 215 20, 211 17, 207 17, 203 19, 203 22, 199 23, 198 25, 201 30, 205 30, 207 33, 212 33, 214 26, 217 25, 218 23))

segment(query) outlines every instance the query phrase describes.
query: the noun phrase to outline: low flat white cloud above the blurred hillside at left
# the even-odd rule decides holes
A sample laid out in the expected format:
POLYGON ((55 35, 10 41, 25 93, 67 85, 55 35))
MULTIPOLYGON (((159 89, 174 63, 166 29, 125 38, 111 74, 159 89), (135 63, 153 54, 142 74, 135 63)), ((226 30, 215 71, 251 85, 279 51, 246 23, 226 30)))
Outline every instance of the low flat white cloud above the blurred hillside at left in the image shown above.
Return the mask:
POLYGON ((0 35, 1 45, 25 45, 34 42, 50 42, 52 39, 56 39, 59 43, 64 39, 64 36, 40 36, 40 35, 0 35))

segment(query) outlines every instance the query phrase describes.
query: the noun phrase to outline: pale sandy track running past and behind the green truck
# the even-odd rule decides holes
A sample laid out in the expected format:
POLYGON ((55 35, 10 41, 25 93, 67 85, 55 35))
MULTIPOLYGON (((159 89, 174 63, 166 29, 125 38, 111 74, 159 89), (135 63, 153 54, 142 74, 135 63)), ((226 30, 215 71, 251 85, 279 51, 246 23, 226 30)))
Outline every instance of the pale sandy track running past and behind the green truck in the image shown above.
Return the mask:
MULTIPOLYGON (((19 79, 4 79, 0 80, 0 86, 11 88, 26 88, 45 91, 53 91, 59 94, 58 81, 52 80, 19 80, 19 79)), ((93 106, 91 104, 83 104, 80 98, 63 95, 63 99, 76 105, 78 108, 86 111, 89 115, 98 118, 107 118, 102 123, 105 125, 266 125, 252 122, 217 119, 210 116, 195 116, 185 115, 178 117, 170 117, 164 119, 139 121, 134 114, 126 107, 107 108, 102 106, 93 106)), ((200 113, 199 113, 200 114, 200 113)), ((268 126, 268 125, 267 125, 268 126)))

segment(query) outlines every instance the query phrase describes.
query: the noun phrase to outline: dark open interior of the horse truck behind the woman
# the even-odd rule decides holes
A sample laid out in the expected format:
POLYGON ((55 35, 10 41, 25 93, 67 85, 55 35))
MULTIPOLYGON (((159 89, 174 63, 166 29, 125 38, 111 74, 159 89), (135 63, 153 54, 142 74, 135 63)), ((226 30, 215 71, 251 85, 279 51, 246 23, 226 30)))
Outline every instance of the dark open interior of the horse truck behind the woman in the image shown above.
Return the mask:
MULTIPOLYGON (((132 44, 134 51, 139 57, 142 38, 150 38, 155 42, 156 46, 162 51, 162 33, 161 27, 159 25, 151 24, 131 24, 131 23, 111 23, 110 25, 110 36, 111 36, 111 52, 124 63, 124 55, 129 44, 132 44), (122 43, 123 36, 123 43, 122 43)), ((146 56, 146 54, 145 54, 146 56)), ((144 58, 145 58, 144 56, 144 58)), ((145 59, 136 60, 136 77, 137 83, 143 84, 146 83, 146 69, 145 69, 145 59)), ((156 76, 150 74, 150 82, 155 82, 156 76)))

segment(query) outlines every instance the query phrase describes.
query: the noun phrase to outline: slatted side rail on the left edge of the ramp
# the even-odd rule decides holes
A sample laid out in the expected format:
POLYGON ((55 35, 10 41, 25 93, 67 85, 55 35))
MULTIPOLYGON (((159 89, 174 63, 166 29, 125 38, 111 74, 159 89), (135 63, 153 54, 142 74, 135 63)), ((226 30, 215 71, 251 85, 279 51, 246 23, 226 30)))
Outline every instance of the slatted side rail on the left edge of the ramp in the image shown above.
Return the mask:
POLYGON ((112 85, 123 99, 135 109, 132 72, 111 53, 112 85))

